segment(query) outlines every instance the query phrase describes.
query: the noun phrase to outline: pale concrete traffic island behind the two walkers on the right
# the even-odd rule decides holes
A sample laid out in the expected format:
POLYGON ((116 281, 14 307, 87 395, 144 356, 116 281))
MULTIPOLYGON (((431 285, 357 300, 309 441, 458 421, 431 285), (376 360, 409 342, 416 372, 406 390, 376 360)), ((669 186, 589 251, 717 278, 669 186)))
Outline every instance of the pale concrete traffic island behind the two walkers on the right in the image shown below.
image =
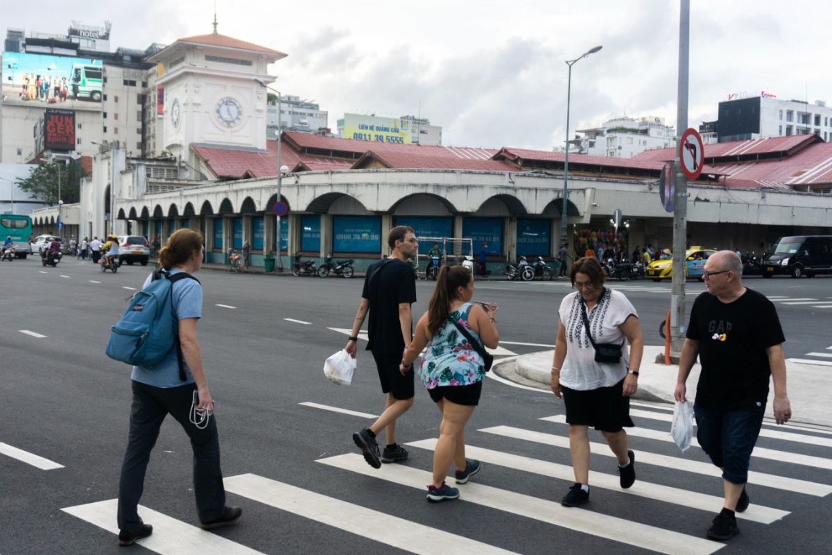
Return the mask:
MULTIPOLYGON (((674 403, 676 374, 679 367, 656 364, 656 354, 663 354, 664 347, 645 346, 644 358, 638 376, 638 392, 633 399, 674 403)), ((550 384, 550 369, 554 350, 523 354, 513 361, 514 370, 525 379, 539 384, 550 384)), ((696 396, 699 381, 699 364, 694 364, 687 378, 687 399, 696 396)), ((796 364, 786 361, 786 384, 795 424, 816 424, 832 427, 832 369, 815 364, 796 364)), ((770 386, 765 415, 774 418, 772 403, 774 386, 770 386)))

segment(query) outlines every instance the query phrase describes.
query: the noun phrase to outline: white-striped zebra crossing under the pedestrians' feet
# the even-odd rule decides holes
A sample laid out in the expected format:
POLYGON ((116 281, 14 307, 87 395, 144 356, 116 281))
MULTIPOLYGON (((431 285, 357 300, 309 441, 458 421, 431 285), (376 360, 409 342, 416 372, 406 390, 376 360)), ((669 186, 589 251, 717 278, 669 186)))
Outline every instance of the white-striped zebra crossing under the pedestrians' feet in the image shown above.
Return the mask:
MULTIPOLYGON (((313 408, 324 406, 305 404, 313 408)), ((344 409, 340 417, 344 416, 372 415, 344 409)), ((696 448, 681 453, 675 445, 666 447, 672 441, 671 414, 666 408, 635 404, 631 417, 636 428, 627 429, 627 434, 636 452, 638 479, 632 488, 622 490, 614 470, 615 455, 607 444, 592 441, 593 457, 602 458, 593 458, 590 484, 595 501, 587 508, 565 508, 559 503, 567 485, 573 482, 572 467, 568 464, 567 425, 562 415, 543 416, 522 428, 506 424, 468 430, 466 456, 478 459, 483 472, 459 486, 459 501, 441 503, 441 507, 428 506, 424 501, 425 484, 432 480, 435 437, 407 442, 411 454, 406 463, 385 464, 379 469, 371 468, 345 442, 340 453, 325 453, 314 461, 316 472, 331 478, 316 480, 314 489, 308 482, 300 483, 300 478, 281 481, 242 473, 225 478, 225 490, 230 503, 241 504, 246 511, 258 508, 261 512, 300 518, 307 531, 306 553, 320 551, 317 543, 332 538, 335 531, 354 534, 369 543, 366 553, 387 553, 391 547, 437 555, 540 553, 532 538, 523 535, 524 530, 535 527, 551 528, 556 538, 563 534, 587 538, 599 551, 626 548, 625 551, 710 555, 724 548, 725 544, 704 537, 707 523, 722 504, 720 469, 706 462, 696 448), (551 483, 551 488, 539 488, 541 481, 551 483), (523 487, 518 483, 538 485, 523 487), (347 493, 349 500, 345 500, 344 492, 350 491, 354 494, 347 493), (391 493, 397 501, 394 505, 379 503, 378 494, 387 491, 395 492, 391 493), (245 500, 255 506, 246 505, 245 500), (500 527, 502 535, 511 535, 510 540, 501 543, 493 535, 473 536, 464 522, 474 507, 486 511, 482 514, 490 515, 489 518, 497 518, 494 527, 500 527), (678 518, 661 518, 663 513, 678 518), (426 514, 437 516, 426 518, 426 514), (702 530, 691 528, 692 522, 702 523, 702 530)), ((825 430, 792 426, 775 429, 766 425, 760 442, 765 442, 765 446, 755 448, 754 470, 748 479, 751 505, 737 518, 740 527, 748 526, 754 531, 770 527, 772 533, 788 533, 790 524, 785 521, 791 515, 799 518, 808 500, 826 503, 824 498, 832 493, 828 452, 832 439, 825 430), (800 472, 804 469, 806 473, 800 472)), ((118 533, 115 499, 62 510, 97 528, 118 533)), ((275 542, 270 543, 274 548, 264 551, 264 543, 255 540, 260 537, 258 534, 267 532, 254 526, 245 531, 238 529, 232 541, 151 508, 141 507, 139 513, 154 526, 151 537, 139 543, 162 555, 291 553, 280 542, 280 528, 268 532, 275 537, 275 542)), ((240 528, 245 525, 244 515, 240 528)), ((300 526, 295 522, 292 531, 286 533, 299 533, 300 526)), ((755 534, 733 541, 754 542, 755 534)), ((558 550, 587 553, 579 546, 567 544, 560 544, 558 550)))

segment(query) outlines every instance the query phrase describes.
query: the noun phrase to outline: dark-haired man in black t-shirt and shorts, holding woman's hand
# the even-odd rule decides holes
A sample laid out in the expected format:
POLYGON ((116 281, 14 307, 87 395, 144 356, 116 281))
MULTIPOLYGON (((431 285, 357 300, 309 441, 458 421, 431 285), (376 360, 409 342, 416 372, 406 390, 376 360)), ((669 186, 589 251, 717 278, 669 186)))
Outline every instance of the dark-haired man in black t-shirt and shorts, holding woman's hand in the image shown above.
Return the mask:
POLYGON ((406 262, 416 255, 418 242, 414 230, 397 225, 388 235, 392 250, 389 258, 370 265, 364 278, 361 304, 355 314, 349 341, 344 347, 355 358, 356 341, 369 311, 369 344, 379 370, 381 390, 387 395, 384 413, 369 428, 353 434, 353 441, 364 454, 364 460, 374 468, 381 463, 395 463, 408 458, 405 448, 396 444, 396 419, 414 404, 414 371, 399 372, 404 349, 413 339, 410 305, 416 302, 416 280, 413 268, 406 262), (387 444, 379 454, 376 434, 384 429, 387 444))

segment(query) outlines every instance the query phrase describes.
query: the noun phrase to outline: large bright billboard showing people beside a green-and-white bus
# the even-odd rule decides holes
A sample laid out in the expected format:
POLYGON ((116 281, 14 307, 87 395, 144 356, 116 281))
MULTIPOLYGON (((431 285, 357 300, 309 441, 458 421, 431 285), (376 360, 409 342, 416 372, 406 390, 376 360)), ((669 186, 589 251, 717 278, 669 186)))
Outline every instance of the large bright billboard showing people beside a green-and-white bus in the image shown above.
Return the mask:
POLYGON ((104 67, 87 58, 2 53, 2 103, 101 110, 104 67))

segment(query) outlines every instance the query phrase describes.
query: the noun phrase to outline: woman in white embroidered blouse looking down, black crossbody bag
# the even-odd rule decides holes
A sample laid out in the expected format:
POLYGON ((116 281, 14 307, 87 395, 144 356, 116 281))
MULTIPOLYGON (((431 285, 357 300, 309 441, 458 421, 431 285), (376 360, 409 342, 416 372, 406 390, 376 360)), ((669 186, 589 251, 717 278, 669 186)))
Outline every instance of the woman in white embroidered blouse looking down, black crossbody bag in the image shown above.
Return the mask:
POLYGON ((561 501, 566 507, 589 500, 590 426, 601 431, 615 453, 621 487, 636 481, 636 456, 627 446, 624 427, 633 426, 630 396, 638 387, 644 351, 636 309, 621 291, 604 287, 598 261, 577 260, 571 277, 577 291, 561 301, 552 360, 552 393, 566 405, 575 473, 575 484, 561 501), (597 362, 596 344, 620 344, 620 359, 597 362))

